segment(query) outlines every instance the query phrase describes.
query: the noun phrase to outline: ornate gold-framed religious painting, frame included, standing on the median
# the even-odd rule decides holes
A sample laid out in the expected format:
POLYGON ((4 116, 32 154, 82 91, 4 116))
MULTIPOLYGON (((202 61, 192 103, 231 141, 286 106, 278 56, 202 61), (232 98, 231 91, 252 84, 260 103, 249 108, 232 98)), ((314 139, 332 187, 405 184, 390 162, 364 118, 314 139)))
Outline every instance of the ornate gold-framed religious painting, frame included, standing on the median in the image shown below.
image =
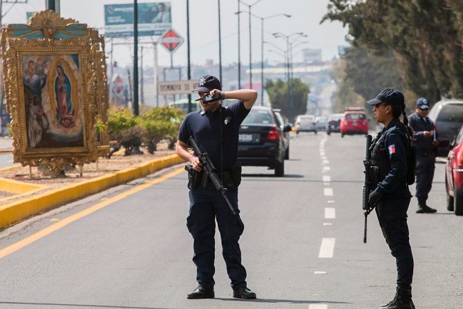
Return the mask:
POLYGON ((104 37, 45 10, 27 25, 8 25, 0 41, 14 161, 59 174, 104 155, 104 37))

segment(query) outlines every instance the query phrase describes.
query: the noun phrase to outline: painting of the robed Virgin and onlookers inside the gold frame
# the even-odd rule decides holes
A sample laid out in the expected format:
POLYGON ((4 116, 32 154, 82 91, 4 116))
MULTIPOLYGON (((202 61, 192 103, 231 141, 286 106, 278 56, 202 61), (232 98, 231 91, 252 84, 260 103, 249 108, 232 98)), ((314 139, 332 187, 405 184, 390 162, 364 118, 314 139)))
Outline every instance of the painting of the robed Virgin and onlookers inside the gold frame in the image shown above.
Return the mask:
POLYGON ((83 147, 78 55, 23 55, 28 148, 83 147))

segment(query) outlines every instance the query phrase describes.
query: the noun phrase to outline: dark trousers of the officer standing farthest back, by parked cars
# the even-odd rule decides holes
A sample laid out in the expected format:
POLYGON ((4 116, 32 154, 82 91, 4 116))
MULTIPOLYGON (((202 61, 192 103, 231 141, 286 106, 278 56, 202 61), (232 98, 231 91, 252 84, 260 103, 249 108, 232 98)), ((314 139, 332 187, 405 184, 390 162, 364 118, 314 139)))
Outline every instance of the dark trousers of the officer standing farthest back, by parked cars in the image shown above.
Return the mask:
POLYGON ((429 191, 431 191, 431 187, 433 186, 434 169, 435 156, 417 155, 417 189, 415 196, 418 198, 418 200, 426 201, 428 199, 429 191))

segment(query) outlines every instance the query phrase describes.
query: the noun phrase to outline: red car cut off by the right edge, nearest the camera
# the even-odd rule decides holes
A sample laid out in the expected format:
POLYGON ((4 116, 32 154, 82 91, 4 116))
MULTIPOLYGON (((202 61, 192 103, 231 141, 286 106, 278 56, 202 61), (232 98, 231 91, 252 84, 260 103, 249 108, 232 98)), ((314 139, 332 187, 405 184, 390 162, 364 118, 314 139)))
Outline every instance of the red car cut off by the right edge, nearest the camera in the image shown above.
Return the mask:
POLYGON ((451 144, 445 166, 447 209, 463 216, 463 127, 451 144))

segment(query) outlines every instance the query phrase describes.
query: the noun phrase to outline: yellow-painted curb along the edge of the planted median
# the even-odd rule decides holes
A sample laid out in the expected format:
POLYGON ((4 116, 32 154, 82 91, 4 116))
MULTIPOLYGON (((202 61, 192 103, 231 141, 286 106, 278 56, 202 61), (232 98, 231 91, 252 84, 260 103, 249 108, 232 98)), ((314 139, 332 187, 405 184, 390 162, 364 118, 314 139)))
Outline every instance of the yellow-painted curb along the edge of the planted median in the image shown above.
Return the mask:
POLYGON ((0 207, 0 229, 73 200, 96 194, 116 185, 122 185, 123 183, 142 178, 149 174, 153 174, 155 171, 182 162, 184 162, 182 158, 176 154, 172 154, 171 156, 147 161, 137 167, 122 169, 115 173, 106 174, 83 182, 77 182, 66 187, 48 191, 44 194, 26 198, 25 200, 3 205, 0 207))

